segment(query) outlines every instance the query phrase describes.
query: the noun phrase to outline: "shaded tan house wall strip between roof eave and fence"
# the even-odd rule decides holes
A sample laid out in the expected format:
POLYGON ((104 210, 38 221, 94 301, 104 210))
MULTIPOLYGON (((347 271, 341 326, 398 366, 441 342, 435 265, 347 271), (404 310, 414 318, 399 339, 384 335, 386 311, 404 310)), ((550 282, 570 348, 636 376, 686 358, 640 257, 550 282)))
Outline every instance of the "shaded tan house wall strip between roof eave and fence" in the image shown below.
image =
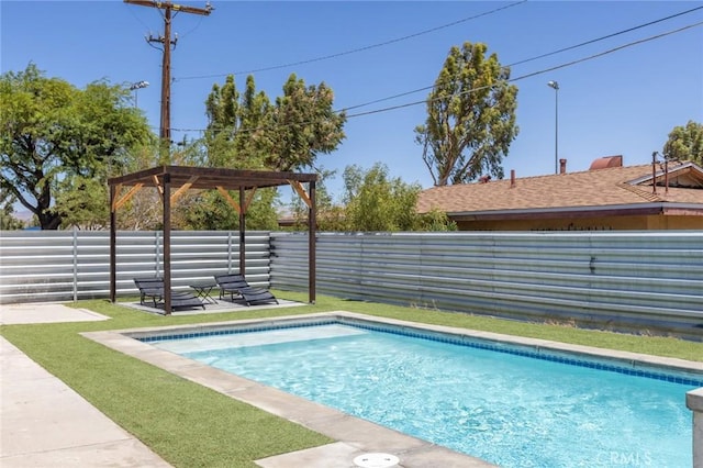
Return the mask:
POLYGON ((703 230, 703 216, 602 216, 457 221, 459 231, 661 231, 703 230))

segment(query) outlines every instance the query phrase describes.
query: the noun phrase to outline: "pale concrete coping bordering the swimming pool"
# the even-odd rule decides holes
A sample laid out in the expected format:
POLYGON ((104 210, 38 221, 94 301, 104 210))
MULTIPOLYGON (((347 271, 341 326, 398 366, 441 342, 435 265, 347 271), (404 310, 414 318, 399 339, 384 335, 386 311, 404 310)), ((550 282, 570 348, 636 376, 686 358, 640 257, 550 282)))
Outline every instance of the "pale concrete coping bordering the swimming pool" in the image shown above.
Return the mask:
MULTIPOLYGON (((650 367, 661 367, 690 372, 703 374, 703 363, 689 361, 679 358, 660 357, 632 352, 611 350, 595 348, 584 345, 571 345, 539 338, 528 338, 513 335, 503 335, 492 332, 473 331, 445 325, 432 325, 421 322, 409 322, 397 319, 388 319, 376 315, 365 315, 347 311, 333 311, 314 314, 286 315, 279 317, 235 320, 226 322, 213 322, 190 325, 169 325, 158 327, 142 327, 129 330, 114 330, 102 332, 85 332, 82 336, 100 343, 111 349, 119 350, 129 356, 135 357, 145 363, 152 364, 171 374, 180 376, 187 380, 200 383, 227 397, 252 404, 271 414, 284 417, 312 431, 324 434, 337 444, 330 444, 313 448, 323 449, 315 457, 325 456, 324 447, 328 447, 327 454, 339 458, 327 459, 326 463, 336 464, 345 461, 353 467, 353 458, 365 453, 389 453, 401 459, 399 466, 405 468, 424 468, 433 466, 451 467, 490 467, 488 461, 471 457, 451 449, 440 447, 426 441, 402 434, 379 424, 348 415, 342 411, 330 406, 286 393, 281 390, 264 386, 253 380, 212 368, 204 364, 197 363, 183 356, 176 355, 168 350, 163 350, 148 343, 140 342, 137 337, 148 337, 163 335, 165 333, 207 333, 211 331, 231 328, 232 326, 257 326, 261 324, 289 325, 294 323, 308 323, 312 320, 359 320, 379 323, 381 325, 393 325, 408 328, 421 328, 423 332, 448 333, 461 335, 468 338, 486 339, 510 345, 528 346, 536 349, 550 352, 576 353, 594 358, 615 359, 623 364, 636 366, 643 364, 650 367), (339 443, 345 449, 339 449, 339 443), (334 447, 334 449, 333 449, 334 447), (438 464, 438 465, 437 465, 438 464)), ((699 389, 701 390, 701 389, 699 389)), ((698 392, 694 390, 693 392, 698 392)), ((687 395, 688 397, 688 395, 687 395)), ((280 459, 281 455, 274 457, 277 459, 259 460, 259 466, 297 466, 294 458, 280 459)), ((290 454, 290 457, 310 457, 306 450, 298 454, 290 454)), ((299 458, 303 459, 303 458, 299 458)), ((309 459, 309 458, 304 458, 309 459)), ((324 463, 321 466, 325 466, 324 463)), ((330 466, 330 465, 327 465, 330 466)), ((337 465, 335 465, 337 466, 337 465)))

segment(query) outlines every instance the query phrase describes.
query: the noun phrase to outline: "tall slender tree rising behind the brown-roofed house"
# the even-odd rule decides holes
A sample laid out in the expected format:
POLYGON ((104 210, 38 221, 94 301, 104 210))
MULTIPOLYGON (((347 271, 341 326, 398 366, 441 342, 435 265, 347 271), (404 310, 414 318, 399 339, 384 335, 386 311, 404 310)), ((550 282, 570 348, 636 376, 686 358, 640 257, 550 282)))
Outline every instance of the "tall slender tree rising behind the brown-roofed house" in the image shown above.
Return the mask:
POLYGON ((489 172, 503 178, 502 159, 517 136, 517 88, 486 44, 451 47, 427 97, 427 119, 415 142, 435 186, 465 183, 489 172))

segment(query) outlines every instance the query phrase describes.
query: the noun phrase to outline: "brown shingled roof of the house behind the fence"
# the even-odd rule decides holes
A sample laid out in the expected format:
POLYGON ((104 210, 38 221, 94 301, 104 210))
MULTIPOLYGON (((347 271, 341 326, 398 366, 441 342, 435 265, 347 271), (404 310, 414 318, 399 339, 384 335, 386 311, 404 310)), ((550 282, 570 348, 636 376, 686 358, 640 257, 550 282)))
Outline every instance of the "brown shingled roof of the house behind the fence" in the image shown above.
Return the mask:
POLYGON ((703 212, 703 169, 692 163, 669 164, 669 188, 665 171, 657 167, 652 192, 652 166, 604 167, 580 172, 525 177, 434 187, 420 193, 417 211, 433 209, 449 215, 475 212, 573 211, 618 209, 668 203, 691 205, 703 212))

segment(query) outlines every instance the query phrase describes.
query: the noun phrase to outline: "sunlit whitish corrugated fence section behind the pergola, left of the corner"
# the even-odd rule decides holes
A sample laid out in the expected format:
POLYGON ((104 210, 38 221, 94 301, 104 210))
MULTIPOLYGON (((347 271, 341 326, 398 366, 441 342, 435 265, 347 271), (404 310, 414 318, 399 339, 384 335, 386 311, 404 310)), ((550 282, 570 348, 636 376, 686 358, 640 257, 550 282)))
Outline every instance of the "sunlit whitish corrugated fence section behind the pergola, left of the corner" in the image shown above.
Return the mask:
MULTIPOLYGON (((269 242, 268 232, 246 234, 246 274, 253 285, 269 287, 269 242)), ((116 249, 118 294, 138 293, 135 277, 163 274, 163 232, 119 232, 116 249)), ((238 231, 171 232, 175 289, 238 266, 238 231)), ((0 232, 0 303, 107 298, 109 291, 109 232, 0 232)))

